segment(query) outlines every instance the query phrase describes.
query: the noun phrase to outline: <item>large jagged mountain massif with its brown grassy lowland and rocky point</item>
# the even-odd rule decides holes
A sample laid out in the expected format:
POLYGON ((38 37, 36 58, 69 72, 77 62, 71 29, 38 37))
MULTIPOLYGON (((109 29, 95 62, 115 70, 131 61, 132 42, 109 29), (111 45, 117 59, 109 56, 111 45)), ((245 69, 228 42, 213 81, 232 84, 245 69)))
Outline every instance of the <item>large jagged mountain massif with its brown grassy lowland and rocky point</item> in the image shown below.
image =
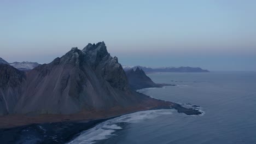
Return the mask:
POLYGON ((83 50, 73 47, 27 73, 7 64, 0 68, 0 115, 7 115, 0 118, 0 127, 106 118, 170 106, 188 115, 200 114, 135 92, 104 42, 88 44, 83 50))

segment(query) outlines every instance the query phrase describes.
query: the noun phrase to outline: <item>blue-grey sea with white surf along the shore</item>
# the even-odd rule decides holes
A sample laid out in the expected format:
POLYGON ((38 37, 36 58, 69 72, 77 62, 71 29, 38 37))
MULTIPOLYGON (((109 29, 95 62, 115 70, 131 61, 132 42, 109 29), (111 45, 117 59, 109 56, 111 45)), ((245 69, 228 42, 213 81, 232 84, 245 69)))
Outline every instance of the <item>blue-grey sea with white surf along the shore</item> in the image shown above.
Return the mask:
POLYGON ((131 113, 83 131, 70 143, 256 143, 255 72, 148 76, 156 83, 177 86, 140 92, 183 106, 200 106, 204 114, 187 116, 172 109, 131 113))

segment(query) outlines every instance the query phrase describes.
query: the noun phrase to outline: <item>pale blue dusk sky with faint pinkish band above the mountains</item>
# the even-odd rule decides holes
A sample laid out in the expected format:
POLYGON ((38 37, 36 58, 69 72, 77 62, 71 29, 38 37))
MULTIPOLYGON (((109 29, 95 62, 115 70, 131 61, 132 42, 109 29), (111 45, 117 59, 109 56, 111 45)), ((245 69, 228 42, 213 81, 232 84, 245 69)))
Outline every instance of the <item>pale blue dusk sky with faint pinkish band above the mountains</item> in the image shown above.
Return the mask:
POLYGON ((0 0, 0 57, 49 63, 104 41, 122 65, 256 71, 256 1, 0 0))

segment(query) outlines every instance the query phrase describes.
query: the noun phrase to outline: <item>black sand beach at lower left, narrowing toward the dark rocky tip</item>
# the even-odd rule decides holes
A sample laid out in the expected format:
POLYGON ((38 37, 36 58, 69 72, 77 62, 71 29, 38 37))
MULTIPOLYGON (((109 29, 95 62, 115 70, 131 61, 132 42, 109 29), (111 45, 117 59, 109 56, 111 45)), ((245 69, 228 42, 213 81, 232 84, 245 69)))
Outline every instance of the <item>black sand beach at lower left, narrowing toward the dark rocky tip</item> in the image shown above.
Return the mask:
MULTIPOLYGON (((148 110, 176 109, 178 113, 185 113, 186 115, 195 114, 191 113, 195 111, 181 107, 181 105, 176 104, 174 107, 158 106, 148 110)), ((97 124, 108 121, 109 119, 130 113, 101 119, 77 121, 66 120, 62 122, 33 123, 13 128, 1 128, 0 141, 1 143, 66 143, 79 136, 82 131, 89 130, 97 124)))

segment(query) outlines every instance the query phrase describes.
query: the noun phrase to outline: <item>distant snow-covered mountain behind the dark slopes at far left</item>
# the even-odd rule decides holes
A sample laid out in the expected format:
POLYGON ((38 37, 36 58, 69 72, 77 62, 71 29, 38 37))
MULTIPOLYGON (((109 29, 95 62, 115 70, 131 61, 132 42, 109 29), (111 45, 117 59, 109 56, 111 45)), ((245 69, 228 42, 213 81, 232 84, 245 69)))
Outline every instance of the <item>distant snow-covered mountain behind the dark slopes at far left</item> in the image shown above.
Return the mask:
POLYGON ((28 71, 33 68, 36 68, 39 64, 37 62, 14 62, 14 63, 10 63, 10 65, 16 69, 19 69, 22 71, 28 71))

